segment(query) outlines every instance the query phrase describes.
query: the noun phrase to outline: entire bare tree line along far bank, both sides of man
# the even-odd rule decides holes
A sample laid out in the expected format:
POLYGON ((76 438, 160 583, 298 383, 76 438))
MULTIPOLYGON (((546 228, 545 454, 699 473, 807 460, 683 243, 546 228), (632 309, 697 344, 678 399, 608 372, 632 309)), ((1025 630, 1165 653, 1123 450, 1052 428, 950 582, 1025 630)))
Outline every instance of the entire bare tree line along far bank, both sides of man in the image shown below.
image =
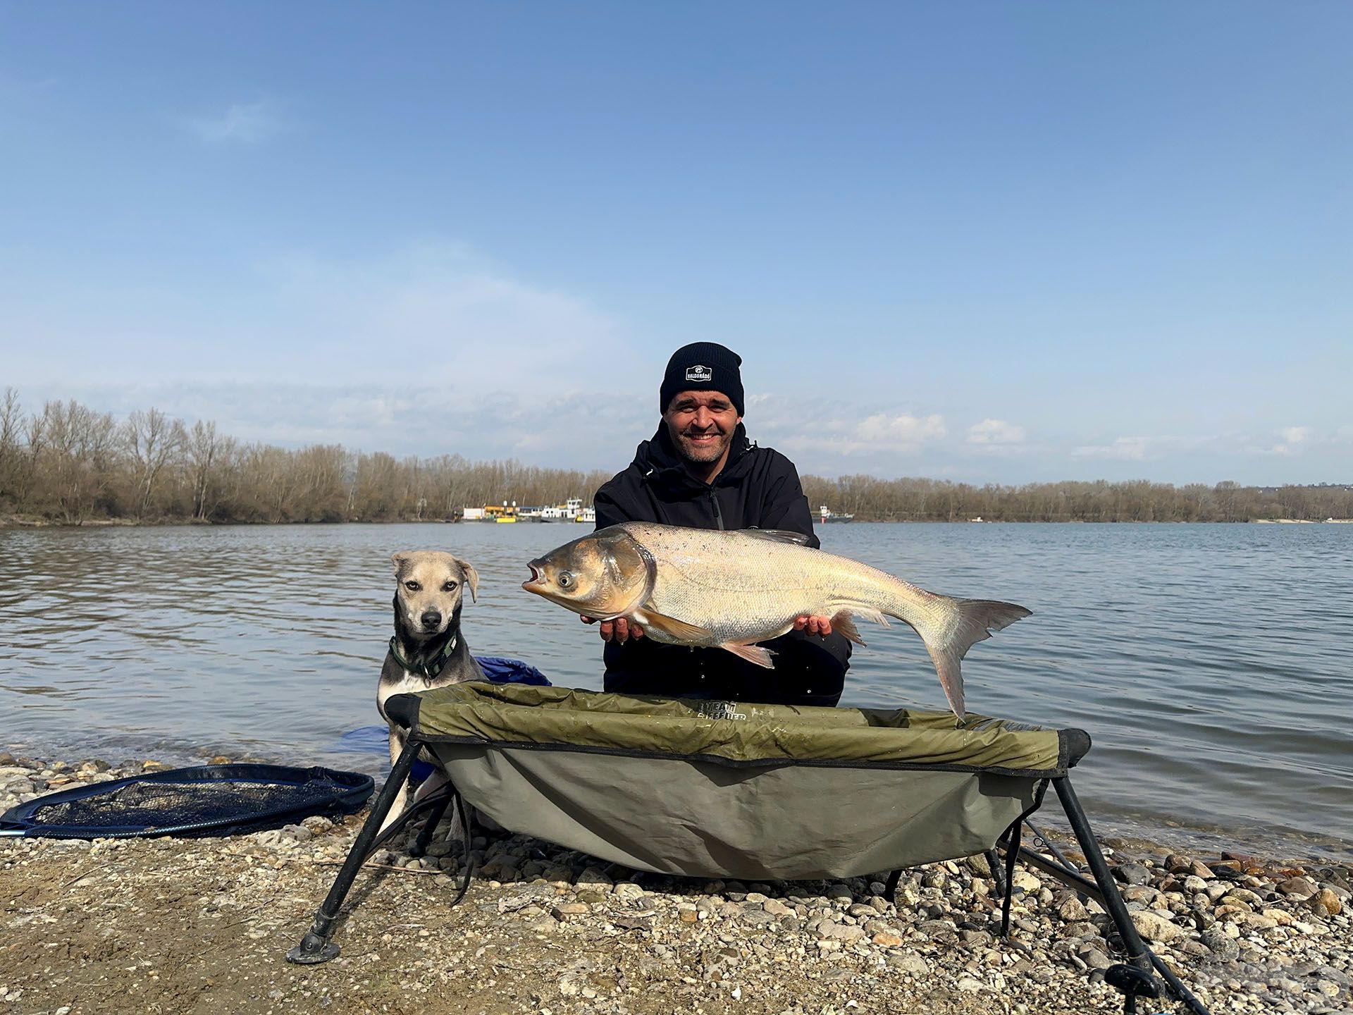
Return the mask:
MULTIPOLYGON (((617 463, 620 468, 622 463, 617 463)), ((214 422, 187 426, 157 409, 118 421, 78 402, 26 414, 0 398, 0 514, 78 525, 92 520, 204 522, 441 521, 465 506, 561 503, 610 472, 396 459, 337 444, 285 449, 242 443, 214 422)), ((813 510, 828 505, 873 521, 1318 521, 1353 517, 1353 489, 1237 483, 1031 483, 971 486, 936 479, 804 476, 813 510)))

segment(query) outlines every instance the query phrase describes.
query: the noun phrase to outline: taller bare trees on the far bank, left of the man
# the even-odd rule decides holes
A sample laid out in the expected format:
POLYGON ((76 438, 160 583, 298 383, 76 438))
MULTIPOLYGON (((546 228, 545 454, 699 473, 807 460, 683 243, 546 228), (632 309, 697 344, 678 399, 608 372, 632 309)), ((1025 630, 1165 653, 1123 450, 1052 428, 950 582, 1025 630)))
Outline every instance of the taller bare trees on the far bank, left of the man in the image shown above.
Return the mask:
POLYGON ((590 502, 609 478, 460 455, 396 459, 337 444, 285 449, 227 437, 214 422, 187 426, 158 409, 119 422, 73 401, 24 414, 14 388, 0 398, 0 514, 69 525, 442 521, 467 505, 590 502))

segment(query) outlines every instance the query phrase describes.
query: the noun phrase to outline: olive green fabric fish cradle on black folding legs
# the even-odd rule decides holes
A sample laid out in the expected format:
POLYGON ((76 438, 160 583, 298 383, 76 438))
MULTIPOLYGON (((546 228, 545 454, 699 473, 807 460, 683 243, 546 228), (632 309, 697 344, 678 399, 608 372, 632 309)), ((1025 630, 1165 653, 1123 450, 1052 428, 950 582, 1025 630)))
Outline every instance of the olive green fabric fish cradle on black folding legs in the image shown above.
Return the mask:
MULTIPOLYGON (((846 878, 985 853, 1001 844, 1105 907, 1127 962, 1109 981, 1135 997, 1206 1010, 1142 943, 1068 777, 1089 750, 1080 729, 969 715, 794 708, 629 697, 566 687, 459 683, 387 702, 409 728, 348 862, 314 924, 288 953, 323 962, 334 923, 418 748, 445 767, 455 801, 503 828, 637 870, 737 880, 846 878), (403 771, 400 770, 403 767, 403 771), (1054 786, 1092 878, 1020 846, 1020 828, 1054 786), (1164 980, 1157 980, 1157 974, 1164 980)), ((418 811, 410 811, 411 817, 418 811)), ((999 878, 1000 880, 1000 878, 999 878)), ((461 895, 469 884, 469 873, 461 895)), ((1007 896, 1008 919, 1008 896, 1007 896)))

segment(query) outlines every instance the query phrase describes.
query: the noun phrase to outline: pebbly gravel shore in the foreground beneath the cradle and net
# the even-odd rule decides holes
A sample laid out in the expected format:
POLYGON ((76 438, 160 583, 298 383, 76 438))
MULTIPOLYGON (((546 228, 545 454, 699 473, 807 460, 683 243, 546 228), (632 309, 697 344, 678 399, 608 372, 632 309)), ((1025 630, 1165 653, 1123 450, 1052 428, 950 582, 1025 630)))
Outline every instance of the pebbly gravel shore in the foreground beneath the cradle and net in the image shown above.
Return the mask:
MULTIPOLYGON (((0 811, 145 767, 158 766, 0 754, 0 811)), ((1019 867, 1001 942, 980 857, 905 873, 894 905, 882 878, 670 878, 478 836, 475 881, 452 908, 459 847, 438 842, 419 859, 379 853, 349 896, 342 954, 288 965, 360 820, 222 839, 0 839, 0 1014, 1122 1010, 1103 983, 1115 958, 1099 905, 1019 867)), ((1138 930, 1214 1012, 1353 1015, 1348 867, 1114 839, 1107 853, 1138 930)))

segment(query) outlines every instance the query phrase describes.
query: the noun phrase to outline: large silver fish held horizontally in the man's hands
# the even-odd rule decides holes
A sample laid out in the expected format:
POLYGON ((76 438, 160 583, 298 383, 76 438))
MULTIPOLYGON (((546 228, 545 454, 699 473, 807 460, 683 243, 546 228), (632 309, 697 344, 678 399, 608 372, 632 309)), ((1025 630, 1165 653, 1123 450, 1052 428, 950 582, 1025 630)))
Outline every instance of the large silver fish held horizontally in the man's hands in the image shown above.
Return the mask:
POLYGON ((874 567, 802 545, 797 532, 723 532, 626 521, 532 560, 526 591, 597 620, 626 617, 656 641, 727 648, 773 667, 756 646, 801 616, 865 644, 851 617, 911 625, 930 651, 944 697, 963 715, 959 660, 1030 612, 1009 602, 951 600, 874 567))

